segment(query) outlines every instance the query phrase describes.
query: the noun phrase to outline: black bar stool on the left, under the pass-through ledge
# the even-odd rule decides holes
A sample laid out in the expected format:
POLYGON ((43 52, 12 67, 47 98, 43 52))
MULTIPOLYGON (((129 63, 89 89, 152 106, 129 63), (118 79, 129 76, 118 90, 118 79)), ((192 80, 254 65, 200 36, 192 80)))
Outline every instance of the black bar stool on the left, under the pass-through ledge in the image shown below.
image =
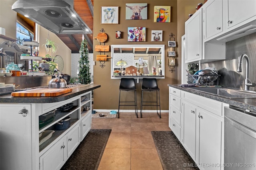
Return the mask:
POLYGON ((135 107, 135 114, 138 118, 138 108, 137 108, 137 94, 136 94, 136 86, 134 78, 121 78, 120 86, 119 86, 119 103, 118 103, 118 118, 119 118, 119 109, 120 106, 134 106, 135 107), (134 91, 134 101, 120 101, 121 91, 134 91), (134 104, 131 104, 133 103, 134 104), (130 103, 130 104, 120 104, 120 103, 130 103))

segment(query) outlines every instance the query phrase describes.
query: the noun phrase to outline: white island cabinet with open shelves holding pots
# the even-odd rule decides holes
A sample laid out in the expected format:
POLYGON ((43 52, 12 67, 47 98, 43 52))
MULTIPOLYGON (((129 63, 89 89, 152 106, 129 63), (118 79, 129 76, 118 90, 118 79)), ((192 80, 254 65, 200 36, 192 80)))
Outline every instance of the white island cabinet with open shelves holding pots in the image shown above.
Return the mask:
POLYGON ((71 156, 91 129, 92 92, 55 103, 0 103, 0 169, 1 170, 58 170, 71 156), (72 103, 69 110, 62 106, 72 103), (46 124, 39 123, 40 115, 56 110, 46 124), (70 127, 56 130, 55 124, 70 117, 70 127), (54 130, 52 136, 39 145, 42 132, 54 130))

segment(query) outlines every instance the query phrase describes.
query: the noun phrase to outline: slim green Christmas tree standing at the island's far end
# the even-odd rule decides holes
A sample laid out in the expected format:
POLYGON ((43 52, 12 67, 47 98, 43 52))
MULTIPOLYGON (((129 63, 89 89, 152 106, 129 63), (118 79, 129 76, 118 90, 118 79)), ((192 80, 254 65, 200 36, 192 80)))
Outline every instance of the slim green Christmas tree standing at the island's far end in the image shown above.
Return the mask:
POLYGON ((87 41, 84 39, 81 42, 81 47, 79 50, 80 53, 80 60, 78 61, 78 71, 77 71, 77 83, 81 84, 90 84, 91 80, 91 73, 90 73, 90 65, 89 65, 89 50, 87 48, 87 41))

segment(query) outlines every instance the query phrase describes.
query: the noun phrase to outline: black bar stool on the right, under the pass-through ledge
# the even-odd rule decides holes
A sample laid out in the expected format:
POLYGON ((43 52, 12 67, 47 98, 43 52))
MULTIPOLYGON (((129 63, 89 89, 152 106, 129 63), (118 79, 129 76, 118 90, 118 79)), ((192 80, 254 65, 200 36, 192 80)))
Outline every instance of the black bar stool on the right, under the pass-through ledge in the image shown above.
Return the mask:
POLYGON ((161 118, 161 107, 160 107, 160 89, 158 88, 156 78, 143 78, 141 84, 141 104, 140 104, 140 117, 142 117, 142 107, 143 106, 156 106, 156 113, 159 118, 161 118), (143 93, 144 91, 148 92, 156 92, 156 100, 154 101, 143 101, 143 93), (158 94, 158 95, 157 95, 158 94), (159 102, 158 98, 159 97, 159 102), (144 104, 144 103, 152 103, 152 104, 144 104), (159 103, 159 104, 158 104, 159 103), (158 106, 160 113, 158 113, 158 106))

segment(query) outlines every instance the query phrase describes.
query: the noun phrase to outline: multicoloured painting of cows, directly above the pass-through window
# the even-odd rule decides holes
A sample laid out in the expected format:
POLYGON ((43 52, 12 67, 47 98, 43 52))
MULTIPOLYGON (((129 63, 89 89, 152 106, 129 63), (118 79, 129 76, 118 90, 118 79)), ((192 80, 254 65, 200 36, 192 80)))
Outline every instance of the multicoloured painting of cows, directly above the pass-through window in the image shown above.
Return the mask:
POLYGON ((146 27, 128 27, 128 42, 146 41, 146 27))

